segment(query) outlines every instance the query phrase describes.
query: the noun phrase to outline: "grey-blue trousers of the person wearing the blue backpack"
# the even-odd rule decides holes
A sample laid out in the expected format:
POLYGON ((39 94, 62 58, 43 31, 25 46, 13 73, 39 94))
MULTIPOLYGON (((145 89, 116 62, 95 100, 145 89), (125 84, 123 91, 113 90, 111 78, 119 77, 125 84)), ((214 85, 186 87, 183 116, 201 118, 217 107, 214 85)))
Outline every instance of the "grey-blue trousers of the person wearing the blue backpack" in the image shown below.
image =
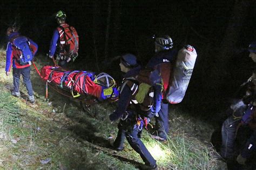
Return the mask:
POLYGON ((14 77, 14 91, 19 92, 19 79, 21 77, 24 81, 24 84, 26 85, 26 90, 29 93, 29 96, 33 95, 33 89, 32 89, 32 84, 30 80, 30 66, 25 67, 23 69, 16 69, 12 68, 12 76, 14 77))

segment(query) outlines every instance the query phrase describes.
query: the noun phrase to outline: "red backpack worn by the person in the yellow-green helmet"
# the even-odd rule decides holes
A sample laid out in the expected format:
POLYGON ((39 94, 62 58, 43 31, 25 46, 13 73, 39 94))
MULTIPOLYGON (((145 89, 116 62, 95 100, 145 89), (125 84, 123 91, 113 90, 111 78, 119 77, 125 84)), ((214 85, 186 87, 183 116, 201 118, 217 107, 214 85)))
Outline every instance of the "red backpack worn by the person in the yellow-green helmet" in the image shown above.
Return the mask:
POLYGON ((59 31, 59 43, 61 51, 64 52, 65 56, 77 57, 79 39, 76 29, 68 24, 60 25, 57 29, 59 31))

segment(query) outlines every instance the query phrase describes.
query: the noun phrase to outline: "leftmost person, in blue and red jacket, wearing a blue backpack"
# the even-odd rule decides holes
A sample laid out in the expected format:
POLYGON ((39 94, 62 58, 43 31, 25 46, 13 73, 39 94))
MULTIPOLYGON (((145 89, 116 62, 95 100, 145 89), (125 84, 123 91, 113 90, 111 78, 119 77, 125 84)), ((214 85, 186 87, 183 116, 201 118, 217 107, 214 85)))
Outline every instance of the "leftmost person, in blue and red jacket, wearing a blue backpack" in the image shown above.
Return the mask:
MULTIPOLYGON (((14 77, 14 90, 12 90, 11 94, 16 97, 21 96, 21 93, 19 92, 19 79, 22 75, 24 84, 26 85, 26 90, 29 94, 29 101, 31 103, 35 103, 35 97, 33 96, 33 89, 30 80, 31 62, 21 64, 18 60, 20 56, 17 56, 17 50, 15 50, 14 46, 12 45, 12 41, 16 37, 20 36, 18 30, 19 28, 17 26, 10 26, 6 32, 6 35, 8 37, 8 44, 6 48, 5 72, 6 76, 9 76, 12 66, 12 76, 14 77), (17 56, 18 59, 15 56, 17 56)), ((38 46, 31 39, 27 39, 29 41, 29 47, 31 49, 32 55, 35 56, 38 46)))

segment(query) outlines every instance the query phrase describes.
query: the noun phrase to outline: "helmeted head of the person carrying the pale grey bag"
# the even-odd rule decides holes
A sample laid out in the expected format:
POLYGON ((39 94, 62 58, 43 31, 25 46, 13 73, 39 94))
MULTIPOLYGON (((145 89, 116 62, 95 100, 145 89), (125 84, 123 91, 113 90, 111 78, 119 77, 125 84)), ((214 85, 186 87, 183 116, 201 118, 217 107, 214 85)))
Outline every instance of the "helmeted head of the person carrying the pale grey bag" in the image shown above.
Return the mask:
POLYGON ((168 35, 156 37, 154 43, 156 44, 156 52, 170 50, 173 47, 172 38, 168 35))

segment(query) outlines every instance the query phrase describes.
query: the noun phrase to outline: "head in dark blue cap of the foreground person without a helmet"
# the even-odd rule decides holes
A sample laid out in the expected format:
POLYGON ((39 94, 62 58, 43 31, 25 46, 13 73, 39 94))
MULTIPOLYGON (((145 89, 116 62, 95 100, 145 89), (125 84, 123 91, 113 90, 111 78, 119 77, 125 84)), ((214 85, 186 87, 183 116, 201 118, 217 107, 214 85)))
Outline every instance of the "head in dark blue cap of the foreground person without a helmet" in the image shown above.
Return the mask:
POLYGON ((126 73, 132 68, 138 66, 137 58, 136 56, 130 53, 127 53, 121 57, 119 65, 120 65, 121 71, 126 73))

